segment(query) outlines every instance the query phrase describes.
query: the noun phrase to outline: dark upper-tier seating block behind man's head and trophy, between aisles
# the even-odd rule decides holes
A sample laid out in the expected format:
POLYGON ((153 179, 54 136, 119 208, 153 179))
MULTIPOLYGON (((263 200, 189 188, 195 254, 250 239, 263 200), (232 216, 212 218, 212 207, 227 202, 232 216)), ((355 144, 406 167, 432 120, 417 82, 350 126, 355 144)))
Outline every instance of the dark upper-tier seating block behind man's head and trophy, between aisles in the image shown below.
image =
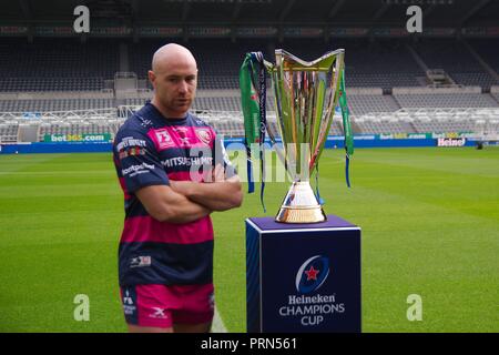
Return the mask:
MULTIPOLYGON (((139 78, 146 78, 151 68, 151 57, 164 41, 141 41, 130 44, 130 68, 139 78)), ((196 41, 189 43, 200 68, 200 89, 237 89, 238 70, 244 54, 263 51, 265 58, 274 62, 271 45, 266 42, 241 41, 196 41), (221 50, 223 48, 224 50, 221 50)), ((417 77, 425 73, 411 58, 404 43, 368 43, 366 40, 335 41, 324 43, 317 40, 286 40, 278 44, 304 60, 315 60, 332 49, 346 50, 346 82, 349 87, 415 87, 417 77)))

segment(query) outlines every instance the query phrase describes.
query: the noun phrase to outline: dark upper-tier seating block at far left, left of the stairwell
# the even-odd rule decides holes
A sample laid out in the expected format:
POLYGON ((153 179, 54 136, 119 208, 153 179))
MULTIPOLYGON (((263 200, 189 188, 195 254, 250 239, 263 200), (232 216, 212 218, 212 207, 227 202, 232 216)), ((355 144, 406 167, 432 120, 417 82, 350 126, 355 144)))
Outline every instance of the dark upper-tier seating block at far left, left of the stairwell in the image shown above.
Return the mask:
POLYGON ((100 90, 119 70, 118 44, 112 40, 0 41, 0 91, 100 90))

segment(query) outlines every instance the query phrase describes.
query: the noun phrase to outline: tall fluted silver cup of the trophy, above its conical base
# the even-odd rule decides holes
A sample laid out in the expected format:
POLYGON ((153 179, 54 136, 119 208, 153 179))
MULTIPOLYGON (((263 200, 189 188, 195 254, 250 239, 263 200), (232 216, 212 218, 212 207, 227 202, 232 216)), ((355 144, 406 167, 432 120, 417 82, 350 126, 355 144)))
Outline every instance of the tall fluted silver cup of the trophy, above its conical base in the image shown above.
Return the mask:
POLYGON ((296 162, 294 181, 308 180, 317 166, 339 97, 344 53, 344 49, 337 49, 307 62, 278 49, 276 64, 266 65, 273 78, 284 154, 296 162), (309 145, 306 161, 302 161, 302 143, 309 145))

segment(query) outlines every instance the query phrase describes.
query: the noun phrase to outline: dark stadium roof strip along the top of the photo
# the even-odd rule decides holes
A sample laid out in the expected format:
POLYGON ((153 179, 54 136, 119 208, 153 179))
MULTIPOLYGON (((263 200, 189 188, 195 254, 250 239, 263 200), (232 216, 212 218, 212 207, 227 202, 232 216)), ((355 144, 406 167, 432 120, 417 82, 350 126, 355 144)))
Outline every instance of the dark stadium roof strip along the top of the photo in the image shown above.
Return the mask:
POLYGON ((143 24, 330 24, 403 26, 410 4, 422 9, 424 26, 498 26, 496 0, 9 0, 0 26, 69 23, 73 9, 89 7, 92 20, 143 24))

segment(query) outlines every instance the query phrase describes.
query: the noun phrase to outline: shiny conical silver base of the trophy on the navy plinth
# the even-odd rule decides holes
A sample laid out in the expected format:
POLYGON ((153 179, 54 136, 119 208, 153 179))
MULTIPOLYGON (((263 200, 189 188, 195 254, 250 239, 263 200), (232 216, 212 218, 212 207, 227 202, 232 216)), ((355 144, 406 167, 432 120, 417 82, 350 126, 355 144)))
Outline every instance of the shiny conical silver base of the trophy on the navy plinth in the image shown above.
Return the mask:
POLYGON ((326 220, 308 181, 293 183, 275 216, 275 221, 279 223, 319 223, 326 220))

